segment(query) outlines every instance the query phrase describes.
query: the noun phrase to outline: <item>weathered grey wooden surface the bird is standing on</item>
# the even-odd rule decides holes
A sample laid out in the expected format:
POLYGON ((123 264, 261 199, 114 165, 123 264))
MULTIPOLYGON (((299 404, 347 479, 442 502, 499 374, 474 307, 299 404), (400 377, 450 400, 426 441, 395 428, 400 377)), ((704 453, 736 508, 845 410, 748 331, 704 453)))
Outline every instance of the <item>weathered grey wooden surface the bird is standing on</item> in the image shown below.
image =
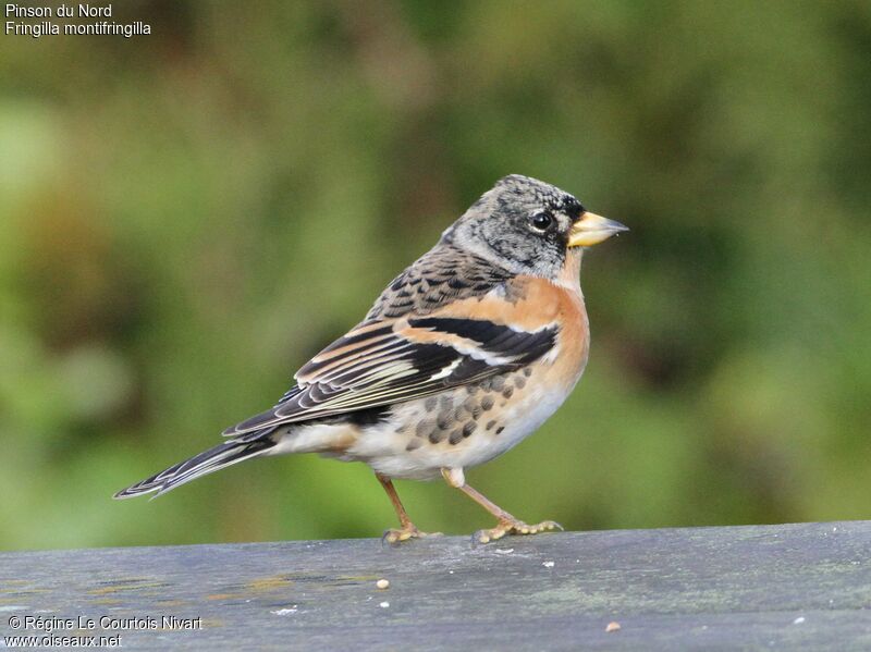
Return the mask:
POLYGON ((12 616, 177 616, 203 629, 54 633, 124 649, 871 650, 869 553, 871 521, 2 553, 0 636, 45 633, 12 616))

